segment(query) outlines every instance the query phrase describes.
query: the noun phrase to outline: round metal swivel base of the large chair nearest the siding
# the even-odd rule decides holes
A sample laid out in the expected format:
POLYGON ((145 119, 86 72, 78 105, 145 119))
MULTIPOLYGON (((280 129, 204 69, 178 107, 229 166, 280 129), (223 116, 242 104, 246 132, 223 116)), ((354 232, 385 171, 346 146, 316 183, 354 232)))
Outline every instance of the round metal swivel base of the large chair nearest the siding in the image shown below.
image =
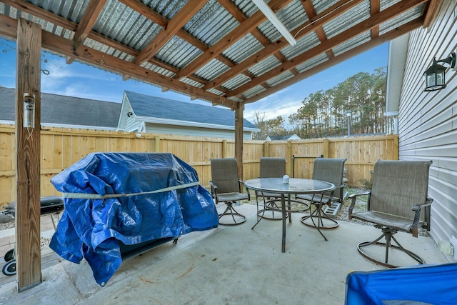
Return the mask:
POLYGON ((390 228, 384 228, 384 227, 378 226, 378 225, 375 226, 375 227, 378 228, 378 229, 382 229, 383 234, 381 234, 381 236, 379 236, 377 239, 375 239, 373 241, 364 241, 364 242, 361 242, 360 244, 357 245, 357 250, 363 257, 365 257, 369 261, 373 261, 373 263, 379 264, 381 266, 385 266, 385 267, 388 267, 388 268, 397 268, 398 266, 395 266, 393 264, 389 264, 388 263, 388 255, 389 255, 389 250, 390 249, 399 249, 399 250, 405 252, 406 254, 408 254, 408 256, 410 256, 412 259, 417 261, 419 264, 421 264, 421 265, 426 264, 426 262, 421 258, 421 256, 418 256, 417 254, 415 254, 415 253, 403 248, 403 246, 401 246, 401 244, 396 240, 396 238, 393 237, 393 234, 396 234, 397 230, 390 229, 390 228), (386 242, 385 243, 384 242, 379 242, 383 238, 386 239, 386 242), (396 245, 392 244, 392 241, 395 241, 396 245), (361 249, 364 246, 371 246, 371 245, 378 245, 378 246, 384 246, 385 247, 386 252, 385 252, 385 255, 384 255, 384 261, 379 261, 378 259, 374 259, 372 256, 366 254, 366 252, 364 252, 361 249))

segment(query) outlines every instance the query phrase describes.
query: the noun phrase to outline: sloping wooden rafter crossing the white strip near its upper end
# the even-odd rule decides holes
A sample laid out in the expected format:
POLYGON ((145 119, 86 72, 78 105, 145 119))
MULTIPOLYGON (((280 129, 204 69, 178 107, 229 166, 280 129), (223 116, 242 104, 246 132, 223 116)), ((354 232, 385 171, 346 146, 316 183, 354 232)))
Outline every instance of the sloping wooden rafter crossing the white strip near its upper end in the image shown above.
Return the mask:
MULTIPOLYGON (((291 0, 271 0, 268 2, 268 5, 273 11, 278 11, 286 6, 291 0)), ((214 46, 211 46, 199 57, 191 61, 190 64, 184 67, 178 74, 176 74, 175 79, 181 79, 182 77, 188 76, 189 74, 194 73, 201 66, 204 66, 206 63, 214 59, 217 55, 221 54, 222 51, 227 49, 229 46, 233 45, 241 39, 246 32, 251 32, 259 24, 266 20, 266 16, 262 14, 261 11, 256 11, 251 17, 243 21, 236 29, 233 29, 229 34, 227 34, 223 39, 219 40, 214 46)))

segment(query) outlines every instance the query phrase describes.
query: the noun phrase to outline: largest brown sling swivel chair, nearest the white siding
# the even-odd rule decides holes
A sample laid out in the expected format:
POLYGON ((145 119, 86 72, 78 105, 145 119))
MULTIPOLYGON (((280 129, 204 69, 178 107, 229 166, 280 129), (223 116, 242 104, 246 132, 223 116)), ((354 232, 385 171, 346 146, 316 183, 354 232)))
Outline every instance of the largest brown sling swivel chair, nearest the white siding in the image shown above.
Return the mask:
POLYGON ((397 249, 411 256, 419 264, 425 264, 420 256, 404 249, 393 235, 403 231, 418 237, 420 227, 430 230, 430 205, 433 199, 427 198, 427 191, 431 163, 431 161, 378 160, 373 169, 371 191, 348 196, 352 200, 348 211, 349 220, 354 218, 368 221, 382 231, 377 239, 358 244, 358 252, 366 259, 394 268, 396 266, 388 262, 388 256, 389 250, 397 249), (353 211, 356 198, 360 195, 368 195, 367 210, 353 211), (385 243, 380 242, 383 238, 386 239, 385 243), (396 245, 391 241, 395 241, 396 245), (381 245, 385 248, 383 261, 373 257, 376 253, 373 252, 373 247, 370 247, 371 255, 367 251, 370 248, 363 249, 371 245, 381 245))

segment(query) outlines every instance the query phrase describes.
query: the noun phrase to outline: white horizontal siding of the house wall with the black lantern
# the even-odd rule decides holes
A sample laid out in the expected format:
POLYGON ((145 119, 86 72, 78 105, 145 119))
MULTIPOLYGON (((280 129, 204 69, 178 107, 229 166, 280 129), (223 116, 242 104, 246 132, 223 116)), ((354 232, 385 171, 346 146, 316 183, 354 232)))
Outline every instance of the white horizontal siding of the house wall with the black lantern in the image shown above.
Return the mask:
POLYGON ((456 16, 457 1, 443 0, 430 26, 411 32, 398 107, 399 159, 433 161, 428 196, 436 242, 457 236, 457 71, 448 69, 446 88, 433 92, 423 91, 423 71, 433 57, 456 51, 456 16))

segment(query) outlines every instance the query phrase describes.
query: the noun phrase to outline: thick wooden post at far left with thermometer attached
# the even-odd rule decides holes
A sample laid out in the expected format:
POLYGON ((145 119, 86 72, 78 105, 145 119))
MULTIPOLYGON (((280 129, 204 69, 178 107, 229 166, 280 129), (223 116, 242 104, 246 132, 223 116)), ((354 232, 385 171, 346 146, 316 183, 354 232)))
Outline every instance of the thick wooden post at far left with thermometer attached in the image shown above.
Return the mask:
POLYGON ((41 26, 26 19, 19 19, 16 48, 15 257, 17 288, 24 291, 41 283, 41 26), (26 111, 32 111, 31 116, 24 115, 24 107, 28 109, 26 111), (25 123, 29 126, 24 127, 25 123))

